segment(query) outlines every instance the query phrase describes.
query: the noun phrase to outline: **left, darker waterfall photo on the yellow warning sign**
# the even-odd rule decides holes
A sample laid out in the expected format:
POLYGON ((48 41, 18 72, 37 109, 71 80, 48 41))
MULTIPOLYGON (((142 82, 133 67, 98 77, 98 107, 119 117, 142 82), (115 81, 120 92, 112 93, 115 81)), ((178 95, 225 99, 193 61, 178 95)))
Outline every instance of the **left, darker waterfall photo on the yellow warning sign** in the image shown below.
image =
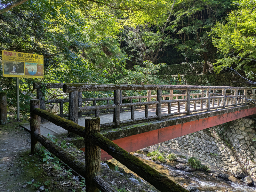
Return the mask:
POLYGON ((6 75, 24 75, 24 62, 4 60, 3 68, 6 75))

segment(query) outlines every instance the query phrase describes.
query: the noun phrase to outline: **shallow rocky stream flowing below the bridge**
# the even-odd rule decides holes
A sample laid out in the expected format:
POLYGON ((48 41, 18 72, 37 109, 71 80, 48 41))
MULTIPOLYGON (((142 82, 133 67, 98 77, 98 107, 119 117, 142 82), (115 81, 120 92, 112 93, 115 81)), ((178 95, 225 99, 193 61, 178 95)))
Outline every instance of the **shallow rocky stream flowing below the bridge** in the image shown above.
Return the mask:
MULTIPOLYGON (((131 154, 137 156, 145 164, 150 165, 152 168, 167 176, 169 179, 175 181, 182 187, 187 188, 188 185, 195 186, 197 190, 194 190, 194 192, 256 192, 255 187, 246 186, 241 180, 235 178, 231 173, 224 172, 217 167, 213 167, 212 165, 207 164, 211 169, 210 172, 185 172, 177 170, 175 168, 175 165, 179 163, 187 163, 188 161, 185 158, 177 157, 176 161, 167 161, 167 163, 160 163, 152 161, 151 158, 146 155, 147 153, 141 150, 132 152, 131 154), (228 180, 223 180, 219 178, 219 173, 228 174, 228 180)), ((127 167, 118 162, 116 159, 110 159, 108 160, 108 162, 117 165, 120 168, 123 168, 124 171, 127 173, 132 173, 136 177, 139 177, 136 173, 130 171, 127 167)))

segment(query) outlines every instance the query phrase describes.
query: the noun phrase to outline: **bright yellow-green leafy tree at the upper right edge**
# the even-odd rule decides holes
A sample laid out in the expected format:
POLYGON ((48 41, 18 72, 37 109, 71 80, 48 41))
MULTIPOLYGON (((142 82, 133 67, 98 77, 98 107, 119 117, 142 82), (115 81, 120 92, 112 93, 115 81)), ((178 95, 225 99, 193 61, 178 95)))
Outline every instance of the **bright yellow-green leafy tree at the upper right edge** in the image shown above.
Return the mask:
POLYGON ((226 22, 217 22, 212 28, 213 44, 222 54, 214 69, 219 73, 223 68, 231 67, 255 78, 256 1, 238 0, 234 3, 239 9, 228 13, 226 22))

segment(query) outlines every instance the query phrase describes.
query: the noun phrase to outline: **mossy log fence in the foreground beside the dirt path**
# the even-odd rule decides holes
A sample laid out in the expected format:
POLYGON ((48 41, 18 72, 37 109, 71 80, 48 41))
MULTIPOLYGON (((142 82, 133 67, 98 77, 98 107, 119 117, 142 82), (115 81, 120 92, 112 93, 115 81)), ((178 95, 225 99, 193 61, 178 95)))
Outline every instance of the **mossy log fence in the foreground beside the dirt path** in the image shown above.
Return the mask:
MULTIPOLYGON (((114 100, 114 103, 116 103, 116 100, 114 100)), ((99 192, 99 190, 101 192, 116 192, 116 189, 98 175, 100 172, 100 148, 161 192, 188 192, 180 185, 140 161, 137 157, 120 148, 111 140, 102 136, 100 134, 99 117, 85 119, 85 127, 82 127, 70 120, 40 109, 40 100, 31 100, 30 105, 31 153, 35 154, 40 147, 39 143, 41 143, 53 155, 57 156, 85 178, 86 192, 99 192), (85 162, 78 161, 74 156, 40 134, 41 117, 61 126, 69 132, 84 137, 85 162)))

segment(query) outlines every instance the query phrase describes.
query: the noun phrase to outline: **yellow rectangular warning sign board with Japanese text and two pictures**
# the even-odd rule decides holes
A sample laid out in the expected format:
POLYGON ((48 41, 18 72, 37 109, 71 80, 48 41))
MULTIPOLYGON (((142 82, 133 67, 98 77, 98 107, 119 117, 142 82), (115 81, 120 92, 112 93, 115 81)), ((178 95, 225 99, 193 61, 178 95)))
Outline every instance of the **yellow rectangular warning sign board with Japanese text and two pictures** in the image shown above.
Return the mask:
POLYGON ((14 51, 2 51, 3 76, 44 78, 44 56, 14 51))

